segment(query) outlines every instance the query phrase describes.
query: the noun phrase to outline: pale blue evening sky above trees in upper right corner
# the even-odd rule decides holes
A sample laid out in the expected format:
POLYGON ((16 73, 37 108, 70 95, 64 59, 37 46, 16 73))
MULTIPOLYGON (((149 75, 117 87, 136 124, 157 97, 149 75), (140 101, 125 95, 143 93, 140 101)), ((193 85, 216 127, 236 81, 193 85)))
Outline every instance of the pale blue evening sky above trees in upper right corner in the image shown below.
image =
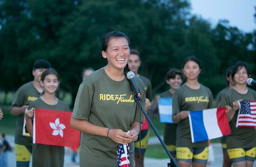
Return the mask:
POLYGON ((192 14, 200 15, 214 26, 219 20, 226 19, 229 25, 243 32, 256 30, 255 0, 190 0, 190 3, 192 14))

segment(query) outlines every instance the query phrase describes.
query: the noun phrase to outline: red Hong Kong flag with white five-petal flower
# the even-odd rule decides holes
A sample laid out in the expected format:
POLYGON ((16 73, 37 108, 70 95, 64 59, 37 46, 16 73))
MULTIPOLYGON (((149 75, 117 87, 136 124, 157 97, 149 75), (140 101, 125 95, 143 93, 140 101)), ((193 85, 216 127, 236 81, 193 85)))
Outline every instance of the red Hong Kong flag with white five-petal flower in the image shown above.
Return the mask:
POLYGON ((80 132, 70 127, 72 112, 35 108, 33 143, 79 147, 80 132))

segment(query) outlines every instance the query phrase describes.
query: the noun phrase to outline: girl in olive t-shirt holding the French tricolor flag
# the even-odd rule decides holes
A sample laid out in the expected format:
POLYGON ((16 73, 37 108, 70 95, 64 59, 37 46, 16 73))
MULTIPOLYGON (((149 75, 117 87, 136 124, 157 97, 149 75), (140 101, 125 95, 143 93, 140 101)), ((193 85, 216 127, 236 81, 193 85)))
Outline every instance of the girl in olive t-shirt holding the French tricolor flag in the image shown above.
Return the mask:
POLYGON ((212 93, 198 82, 201 65, 196 57, 184 60, 182 71, 186 82, 173 96, 173 121, 178 123, 176 152, 179 166, 206 166, 208 141, 192 143, 189 111, 212 108, 212 93))

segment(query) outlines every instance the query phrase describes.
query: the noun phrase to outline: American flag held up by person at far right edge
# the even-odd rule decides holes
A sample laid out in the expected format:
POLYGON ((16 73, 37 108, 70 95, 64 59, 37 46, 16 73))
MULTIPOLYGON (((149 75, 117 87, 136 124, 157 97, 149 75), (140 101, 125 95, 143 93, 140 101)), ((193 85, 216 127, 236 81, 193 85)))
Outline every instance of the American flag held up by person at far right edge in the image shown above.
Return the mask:
POLYGON ((237 127, 256 127, 256 101, 243 100, 239 106, 237 127))

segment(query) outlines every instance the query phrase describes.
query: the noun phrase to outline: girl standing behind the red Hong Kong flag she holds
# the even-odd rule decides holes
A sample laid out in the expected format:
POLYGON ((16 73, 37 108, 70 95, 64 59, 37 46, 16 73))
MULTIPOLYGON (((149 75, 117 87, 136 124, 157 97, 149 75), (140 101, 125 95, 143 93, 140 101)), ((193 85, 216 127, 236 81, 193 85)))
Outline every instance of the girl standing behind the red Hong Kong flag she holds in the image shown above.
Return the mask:
MULTIPOLYGON (((57 99, 55 92, 59 86, 59 75, 54 69, 48 69, 41 75, 40 84, 44 88, 43 95, 35 101, 30 102, 26 112, 26 126, 31 136, 33 136, 34 108, 53 109, 60 111, 70 111, 69 106, 57 99)), ((64 165, 64 147, 33 144, 32 146, 32 166, 56 166, 64 165)))

